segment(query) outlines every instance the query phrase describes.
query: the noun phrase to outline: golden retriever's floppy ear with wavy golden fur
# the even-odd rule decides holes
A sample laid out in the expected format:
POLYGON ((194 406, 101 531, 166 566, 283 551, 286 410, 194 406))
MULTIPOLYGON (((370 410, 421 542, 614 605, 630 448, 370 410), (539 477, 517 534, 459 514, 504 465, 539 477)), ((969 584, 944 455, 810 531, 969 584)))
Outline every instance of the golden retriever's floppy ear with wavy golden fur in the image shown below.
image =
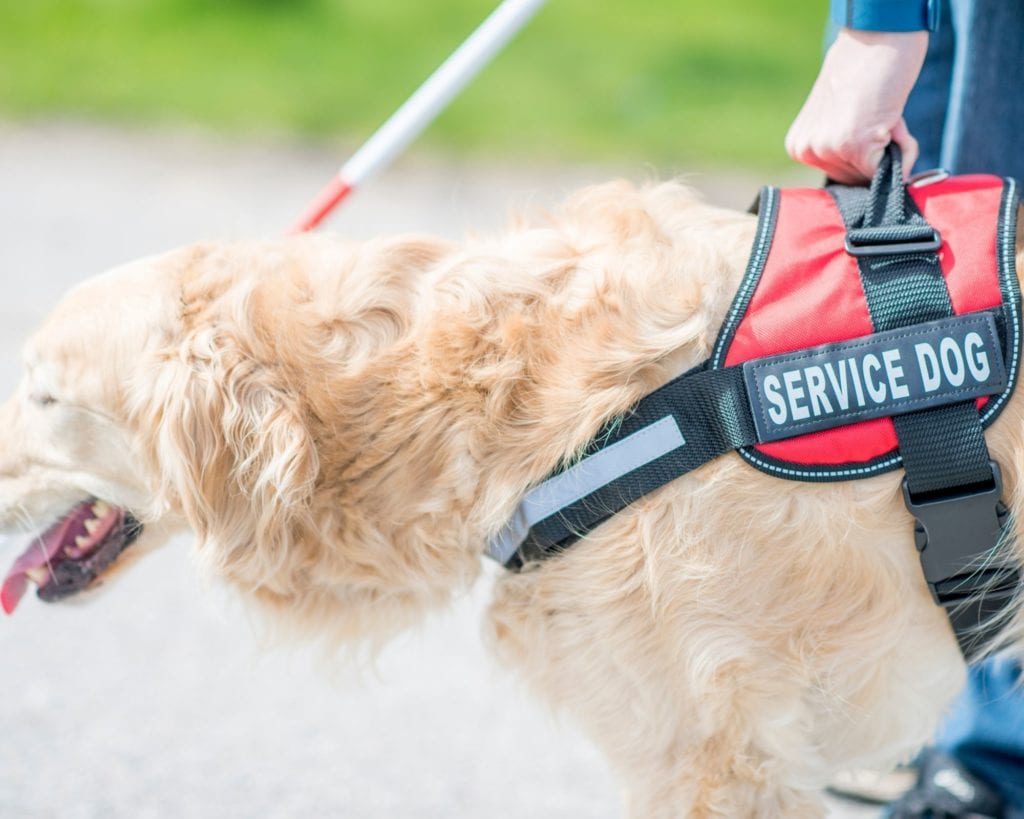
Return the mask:
POLYGON ((272 583, 318 469, 300 398, 223 330, 193 335, 175 358, 158 390, 166 488, 214 569, 272 583))

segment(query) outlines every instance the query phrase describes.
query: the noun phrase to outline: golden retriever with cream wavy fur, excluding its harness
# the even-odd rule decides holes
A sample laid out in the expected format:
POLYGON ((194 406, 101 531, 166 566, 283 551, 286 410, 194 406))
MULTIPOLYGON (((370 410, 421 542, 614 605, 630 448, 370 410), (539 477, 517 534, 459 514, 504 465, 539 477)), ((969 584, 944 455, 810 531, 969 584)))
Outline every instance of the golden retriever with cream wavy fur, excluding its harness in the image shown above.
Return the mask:
MULTIPOLYGON (((380 641, 708 356, 754 231, 681 185, 615 183, 494 238, 208 244, 87 281, 0 410, 0 525, 40 524, 4 606, 187 526, 271 621, 380 641)), ((1020 391, 987 439, 1024 519, 1020 391)), ((505 574, 488 637, 607 755, 630 816, 821 816, 829 776, 909 756, 963 683, 900 479, 725 456, 505 574)))

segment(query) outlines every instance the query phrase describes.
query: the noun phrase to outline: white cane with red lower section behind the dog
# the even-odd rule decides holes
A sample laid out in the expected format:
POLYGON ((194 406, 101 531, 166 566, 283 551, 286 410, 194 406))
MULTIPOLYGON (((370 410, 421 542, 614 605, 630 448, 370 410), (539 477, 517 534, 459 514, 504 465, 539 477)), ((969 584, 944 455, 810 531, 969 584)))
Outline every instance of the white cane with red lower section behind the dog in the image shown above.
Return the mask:
POLYGON ((290 232, 311 230, 345 197, 397 157, 511 40, 547 0, 504 0, 440 64, 338 175, 309 203, 290 232))

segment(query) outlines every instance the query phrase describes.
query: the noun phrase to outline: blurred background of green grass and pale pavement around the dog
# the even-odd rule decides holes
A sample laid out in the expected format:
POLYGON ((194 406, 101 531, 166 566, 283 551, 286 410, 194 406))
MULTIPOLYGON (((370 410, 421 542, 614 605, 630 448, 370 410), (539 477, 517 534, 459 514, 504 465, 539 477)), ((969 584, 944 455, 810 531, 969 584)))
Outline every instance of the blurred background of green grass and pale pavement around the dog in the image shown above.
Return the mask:
MULTIPOLYGON (((76 282, 279 234, 494 5, 0 0, 0 393, 76 282)), ((735 207, 813 181, 782 138, 825 6, 551 0, 329 229, 459 236, 620 175, 735 207)), ((488 660, 495 576, 361 671, 265 650, 187 541, 88 605, 27 599, 0 621, 0 819, 620 816, 597 751, 488 660)))

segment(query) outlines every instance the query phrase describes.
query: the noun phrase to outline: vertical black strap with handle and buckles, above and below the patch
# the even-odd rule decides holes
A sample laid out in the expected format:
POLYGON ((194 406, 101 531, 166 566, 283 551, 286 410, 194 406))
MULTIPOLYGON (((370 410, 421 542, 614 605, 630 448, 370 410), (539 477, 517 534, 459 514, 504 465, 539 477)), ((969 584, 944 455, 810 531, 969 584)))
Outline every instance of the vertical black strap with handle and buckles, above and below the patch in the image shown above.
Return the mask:
MULTIPOLYGON (((890 145, 869 189, 827 189, 847 225, 876 331, 953 315, 937 255, 941 238, 907 195, 899 148, 890 145)), ((893 424, 925 576, 970 657, 1002 624, 998 614, 1019 584, 997 551, 1008 519, 998 466, 973 400, 895 416, 893 424)))

